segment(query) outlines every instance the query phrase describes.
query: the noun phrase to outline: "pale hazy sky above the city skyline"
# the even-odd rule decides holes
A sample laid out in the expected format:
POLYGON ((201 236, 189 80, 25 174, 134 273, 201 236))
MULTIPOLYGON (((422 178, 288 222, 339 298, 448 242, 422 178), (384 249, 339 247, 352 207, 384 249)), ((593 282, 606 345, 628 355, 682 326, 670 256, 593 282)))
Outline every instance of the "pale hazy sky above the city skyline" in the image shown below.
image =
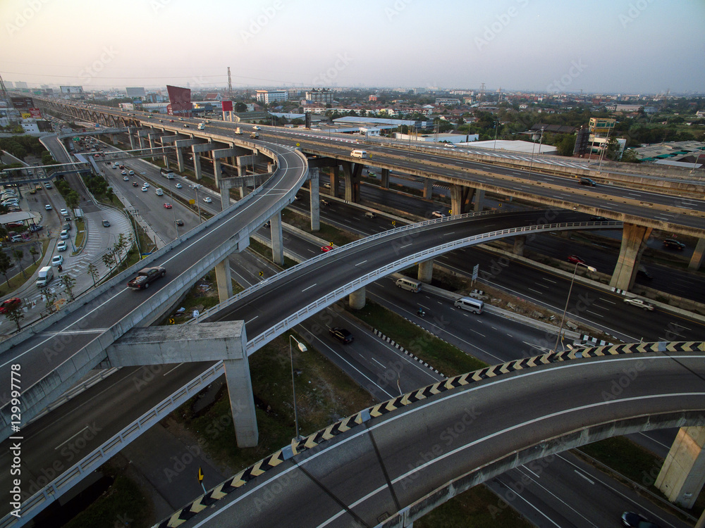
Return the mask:
POLYGON ((0 73, 84 89, 705 92, 705 0, 0 0, 0 73))

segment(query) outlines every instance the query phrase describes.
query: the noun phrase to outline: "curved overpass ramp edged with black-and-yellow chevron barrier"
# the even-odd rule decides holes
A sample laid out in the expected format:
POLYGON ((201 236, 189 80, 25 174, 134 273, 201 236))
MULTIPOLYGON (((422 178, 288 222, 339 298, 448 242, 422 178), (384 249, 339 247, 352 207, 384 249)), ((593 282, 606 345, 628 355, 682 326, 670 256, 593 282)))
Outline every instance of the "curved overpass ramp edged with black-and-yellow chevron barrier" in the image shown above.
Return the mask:
POLYGON ((293 441, 159 527, 406 526, 546 455, 704 425, 704 352, 703 342, 603 346, 453 377, 293 441))

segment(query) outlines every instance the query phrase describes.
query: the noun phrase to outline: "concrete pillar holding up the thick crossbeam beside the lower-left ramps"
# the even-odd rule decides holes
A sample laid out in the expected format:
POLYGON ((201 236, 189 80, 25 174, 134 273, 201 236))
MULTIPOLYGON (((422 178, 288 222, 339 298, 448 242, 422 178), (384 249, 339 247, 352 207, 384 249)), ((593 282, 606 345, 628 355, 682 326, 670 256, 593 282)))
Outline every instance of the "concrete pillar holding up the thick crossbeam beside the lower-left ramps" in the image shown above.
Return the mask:
POLYGON ((259 431, 247 354, 243 354, 242 359, 223 360, 223 364, 238 447, 255 447, 259 441, 259 431))

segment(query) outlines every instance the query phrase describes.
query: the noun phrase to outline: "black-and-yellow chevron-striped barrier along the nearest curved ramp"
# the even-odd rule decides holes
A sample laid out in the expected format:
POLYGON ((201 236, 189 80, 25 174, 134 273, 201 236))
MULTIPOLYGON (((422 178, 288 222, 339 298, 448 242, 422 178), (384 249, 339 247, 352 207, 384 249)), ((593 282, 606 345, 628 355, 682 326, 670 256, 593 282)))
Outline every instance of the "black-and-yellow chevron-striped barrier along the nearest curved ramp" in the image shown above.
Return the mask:
POLYGON ((171 515, 171 517, 161 521, 159 524, 155 524, 153 528, 178 527, 180 524, 188 521, 190 518, 194 517, 205 508, 208 508, 216 501, 228 496, 228 494, 232 491, 245 486, 247 482, 259 477, 259 475, 264 474, 267 470, 271 470, 273 467, 278 466, 284 461, 292 458, 294 455, 312 448, 316 448, 326 440, 333 439, 338 436, 338 434, 343 434, 344 432, 353 429, 353 427, 367 422, 371 418, 379 417, 385 415, 386 413, 391 413, 393 410, 398 410, 405 406, 409 406, 412 403, 425 400, 431 396, 435 396, 436 394, 441 394, 443 392, 450 391, 451 389, 458 389, 459 387, 467 386, 474 382, 481 382, 484 379, 491 379, 503 374, 509 374, 510 372, 525 370, 531 367, 537 367, 539 365, 550 365, 551 363, 560 363, 561 361, 580 358, 599 358, 604 356, 619 356, 623 354, 649 352, 705 353, 705 342, 657 341, 655 343, 629 343, 622 345, 594 346, 591 348, 574 348, 569 351, 549 352, 542 354, 541 356, 534 356, 532 358, 522 358, 508 361, 507 363, 502 363, 501 365, 484 367, 480 370, 475 370, 474 372, 467 372, 466 374, 444 379, 441 382, 424 386, 422 389, 417 389, 416 391, 404 394, 403 396, 398 396, 383 403, 378 403, 376 406, 371 408, 363 409, 359 413, 348 416, 347 418, 344 418, 333 425, 329 425, 325 429, 321 429, 320 431, 315 432, 314 434, 311 434, 303 439, 293 439, 289 446, 276 451, 276 453, 269 455, 263 460, 259 460, 259 462, 255 465, 248 467, 246 470, 226 480, 226 482, 219 484, 211 491, 208 491, 207 494, 200 496, 192 503, 186 505, 185 508, 182 508, 178 512, 171 515))

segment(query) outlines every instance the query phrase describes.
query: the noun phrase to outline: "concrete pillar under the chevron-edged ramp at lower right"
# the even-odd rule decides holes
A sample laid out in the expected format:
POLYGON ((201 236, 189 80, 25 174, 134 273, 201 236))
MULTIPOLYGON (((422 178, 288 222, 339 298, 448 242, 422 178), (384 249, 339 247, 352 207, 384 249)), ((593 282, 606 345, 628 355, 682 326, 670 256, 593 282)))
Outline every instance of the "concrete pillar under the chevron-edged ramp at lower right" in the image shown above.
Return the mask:
POLYGON ((669 501, 692 508, 705 484, 705 427, 681 427, 656 477, 669 501))

